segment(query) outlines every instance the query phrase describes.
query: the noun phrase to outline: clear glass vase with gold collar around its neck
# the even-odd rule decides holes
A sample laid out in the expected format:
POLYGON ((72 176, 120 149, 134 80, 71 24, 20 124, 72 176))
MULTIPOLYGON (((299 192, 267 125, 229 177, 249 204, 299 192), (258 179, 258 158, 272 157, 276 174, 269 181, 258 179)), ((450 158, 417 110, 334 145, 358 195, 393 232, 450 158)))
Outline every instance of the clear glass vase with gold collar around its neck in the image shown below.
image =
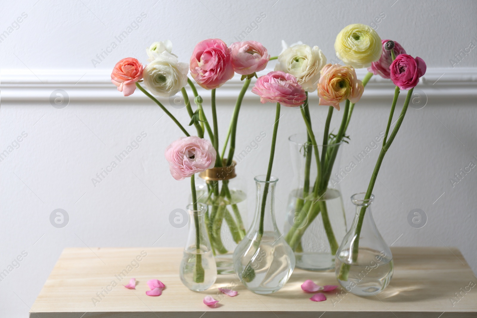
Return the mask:
POLYGON ((247 195, 235 174, 235 161, 199 174, 198 202, 207 205, 206 226, 218 274, 233 274, 233 251, 245 236, 247 195))

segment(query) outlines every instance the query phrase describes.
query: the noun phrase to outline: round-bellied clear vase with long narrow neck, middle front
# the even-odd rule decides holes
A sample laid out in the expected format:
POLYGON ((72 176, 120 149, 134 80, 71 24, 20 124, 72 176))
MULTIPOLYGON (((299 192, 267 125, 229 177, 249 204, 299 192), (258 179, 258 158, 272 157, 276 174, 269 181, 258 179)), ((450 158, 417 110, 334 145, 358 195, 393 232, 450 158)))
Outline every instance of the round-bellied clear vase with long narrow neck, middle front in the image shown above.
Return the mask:
POLYGON ((256 294, 280 290, 295 267, 295 256, 275 223, 275 185, 278 178, 255 177, 255 217, 233 255, 235 273, 256 294), (264 198, 265 196, 265 198, 264 198))

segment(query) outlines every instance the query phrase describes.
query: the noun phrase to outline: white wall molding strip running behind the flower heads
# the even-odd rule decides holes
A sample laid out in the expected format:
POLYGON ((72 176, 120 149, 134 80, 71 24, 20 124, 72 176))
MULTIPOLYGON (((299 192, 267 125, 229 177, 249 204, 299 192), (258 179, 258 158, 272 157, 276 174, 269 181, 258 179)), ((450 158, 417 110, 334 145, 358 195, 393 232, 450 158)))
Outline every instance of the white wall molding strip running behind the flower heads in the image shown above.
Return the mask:
MULTIPOLYGON (((357 73, 359 78, 363 78, 366 70, 357 70, 357 73)), ((241 86, 240 77, 236 76, 217 90, 217 96, 224 103, 234 103, 241 86)), ((109 70, 2 70, 0 88, 3 103, 49 103, 51 93, 57 89, 67 92, 70 102, 73 103, 148 101, 148 98, 140 92, 124 97, 111 83, 109 70)), ((449 99, 476 97, 477 68, 429 68, 417 88, 428 97, 449 99)), ((393 92, 394 86, 390 80, 373 76, 365 89, 363 100, 380 100, 389 97, 393 92)), ((207 102, 210 94, 202 89, 200 93, 207 102)), ((310 94, 310 98, 317 99, 316 94, 310 94)), ((257 96, 250 91, 244 98, 245 103, 256 100, 257 96)))

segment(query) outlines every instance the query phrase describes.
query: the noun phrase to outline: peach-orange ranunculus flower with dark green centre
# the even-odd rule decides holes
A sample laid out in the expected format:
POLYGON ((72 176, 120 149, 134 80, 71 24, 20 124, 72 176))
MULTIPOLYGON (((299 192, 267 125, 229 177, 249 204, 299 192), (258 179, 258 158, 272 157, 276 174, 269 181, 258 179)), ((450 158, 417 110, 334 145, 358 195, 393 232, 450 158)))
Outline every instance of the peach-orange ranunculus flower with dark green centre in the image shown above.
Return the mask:
POLYGON ((356 77, 356 71, 340 64, 326 64, 321 70, 318 82, 319 105, 333 106, 340 110, 340 103, 349 99, 358 103, 363 95, 363 82, 356 77))

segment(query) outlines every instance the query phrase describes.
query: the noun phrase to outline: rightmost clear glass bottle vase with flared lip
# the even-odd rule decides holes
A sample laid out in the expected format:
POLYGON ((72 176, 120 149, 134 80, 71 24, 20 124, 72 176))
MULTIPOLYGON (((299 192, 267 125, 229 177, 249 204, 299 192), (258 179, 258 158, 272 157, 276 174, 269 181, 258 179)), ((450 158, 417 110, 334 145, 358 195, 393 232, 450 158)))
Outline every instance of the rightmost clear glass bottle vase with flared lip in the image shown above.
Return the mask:
POLYGON ((335 274, 340 285, 358 296, 373 296, 384 290, 394 272, 393 254, 374 224, 374 195, 351 197, 356 205, 353 225, 336 253, 335 274))

